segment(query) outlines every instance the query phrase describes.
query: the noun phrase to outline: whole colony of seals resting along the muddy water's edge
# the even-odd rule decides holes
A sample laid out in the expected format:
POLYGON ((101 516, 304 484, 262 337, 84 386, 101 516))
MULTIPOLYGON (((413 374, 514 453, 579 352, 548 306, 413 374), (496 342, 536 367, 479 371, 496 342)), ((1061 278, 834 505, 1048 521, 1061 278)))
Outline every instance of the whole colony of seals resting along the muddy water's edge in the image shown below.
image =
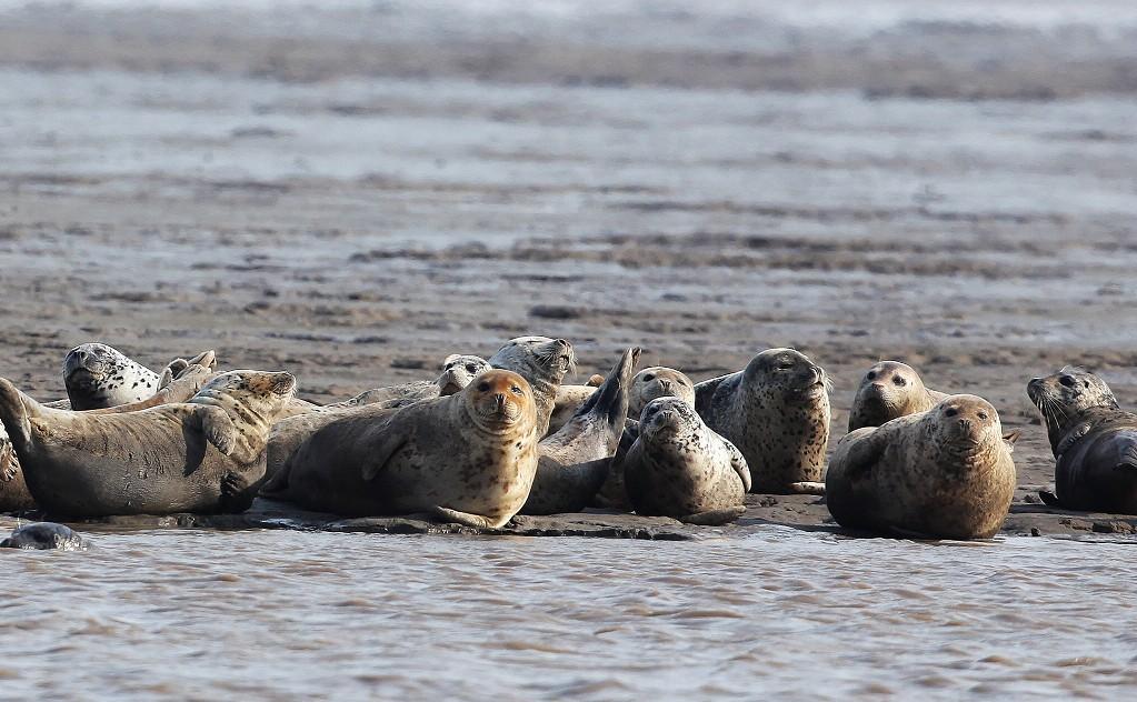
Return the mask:
MULTIPOLYGON (((521 336, 489 359, 450 353, 437 377, 317 406, 296 396, 292 375, 218 370, 211 351, 155 373, 83 344, 63 379, 66 407, 84 409, 0 378, 0 511, 207 515, 260 494, 479 529, 591 508, 720 525, 761 492, 824 495, 843 527, 893 536, 989 538, 1006 518, 1014 437, 982 398, 938 393, 911 366, 880 361, 827 466, 832 384, 799 351, 761 351, 700 383, 637 373, 640 354, 626 349, 606 376, 572 385, 571 342, 521 336)), ((1027 392, 1056 459, 1055 490, 1040 498, 1137 513, 1137 415, 1077 368, 1027 392)), ((73 540, 43 526, 13 543, 73 540)))

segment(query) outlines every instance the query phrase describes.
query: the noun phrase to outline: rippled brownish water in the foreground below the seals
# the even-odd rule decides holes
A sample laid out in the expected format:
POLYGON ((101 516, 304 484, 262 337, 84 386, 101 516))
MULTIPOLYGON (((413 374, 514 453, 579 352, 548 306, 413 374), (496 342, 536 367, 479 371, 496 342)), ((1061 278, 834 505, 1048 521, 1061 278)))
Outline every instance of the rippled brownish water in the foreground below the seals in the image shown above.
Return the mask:
POLYGON ((1131 543, 94 534, 6 552, 3 696, 841 699, 1137 688, 1131 543))

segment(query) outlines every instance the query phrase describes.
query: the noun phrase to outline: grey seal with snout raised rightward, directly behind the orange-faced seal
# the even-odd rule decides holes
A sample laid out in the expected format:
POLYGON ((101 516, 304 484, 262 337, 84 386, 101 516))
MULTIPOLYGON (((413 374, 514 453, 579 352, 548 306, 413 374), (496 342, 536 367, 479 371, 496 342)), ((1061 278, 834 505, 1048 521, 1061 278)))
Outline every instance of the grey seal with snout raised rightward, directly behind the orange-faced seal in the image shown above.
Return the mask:
POLYGON ((576 353, 563 339, 518 336, 490 357, 490 366, 512 370, 529 381, 537 402, 537 426, 541 436, 549 433, 549 420, 556 406, 557 388, 565 375, 575 373, 576 353))

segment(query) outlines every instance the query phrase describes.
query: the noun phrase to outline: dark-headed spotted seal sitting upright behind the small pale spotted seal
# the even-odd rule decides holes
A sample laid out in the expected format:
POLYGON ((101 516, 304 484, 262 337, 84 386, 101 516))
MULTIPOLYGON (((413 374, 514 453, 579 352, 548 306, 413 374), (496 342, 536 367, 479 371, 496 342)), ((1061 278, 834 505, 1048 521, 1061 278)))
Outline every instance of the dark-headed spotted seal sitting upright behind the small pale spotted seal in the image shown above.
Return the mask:
POLYGON ((824 369, 794 349, 770 349, 744 370, 695 386, 695 409, 746 457, 752 491, 797 492, 821 479, 829 442, 824 369))

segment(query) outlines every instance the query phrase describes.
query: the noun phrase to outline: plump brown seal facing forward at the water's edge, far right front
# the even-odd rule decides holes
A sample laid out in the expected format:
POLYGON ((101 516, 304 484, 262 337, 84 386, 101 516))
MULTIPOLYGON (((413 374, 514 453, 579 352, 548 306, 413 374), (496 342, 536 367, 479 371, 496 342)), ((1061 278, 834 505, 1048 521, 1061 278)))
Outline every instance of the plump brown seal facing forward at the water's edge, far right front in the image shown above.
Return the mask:
POLYGON ((846 435, 825 475, 844 527, 902 536, 990 538, 1015 487, 998 412, 976 395, 846 435))

